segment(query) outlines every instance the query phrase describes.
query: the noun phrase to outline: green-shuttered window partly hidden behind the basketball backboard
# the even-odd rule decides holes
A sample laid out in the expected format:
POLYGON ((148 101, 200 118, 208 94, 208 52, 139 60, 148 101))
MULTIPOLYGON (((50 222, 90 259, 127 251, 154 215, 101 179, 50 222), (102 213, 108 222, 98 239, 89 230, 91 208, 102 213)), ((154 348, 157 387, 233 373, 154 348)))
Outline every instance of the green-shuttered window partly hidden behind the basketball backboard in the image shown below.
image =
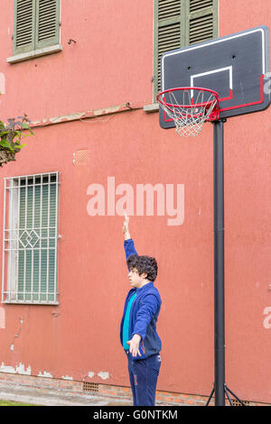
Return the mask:
POLYGON ((154 0, 154 102, 166 51, 218 37, 218 0, 154 0))

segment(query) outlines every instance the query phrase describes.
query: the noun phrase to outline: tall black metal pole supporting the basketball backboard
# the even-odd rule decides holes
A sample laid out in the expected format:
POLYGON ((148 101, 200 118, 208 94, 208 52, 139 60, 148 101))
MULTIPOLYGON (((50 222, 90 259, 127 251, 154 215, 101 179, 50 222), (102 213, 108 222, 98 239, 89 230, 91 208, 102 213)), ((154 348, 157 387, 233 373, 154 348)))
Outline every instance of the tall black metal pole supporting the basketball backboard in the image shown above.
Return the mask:
POLYGON ((225 406, 225 301, 224 301, 224 132, 226 120, 213 123, 214 193, 214 354, 215 405, 225 406))

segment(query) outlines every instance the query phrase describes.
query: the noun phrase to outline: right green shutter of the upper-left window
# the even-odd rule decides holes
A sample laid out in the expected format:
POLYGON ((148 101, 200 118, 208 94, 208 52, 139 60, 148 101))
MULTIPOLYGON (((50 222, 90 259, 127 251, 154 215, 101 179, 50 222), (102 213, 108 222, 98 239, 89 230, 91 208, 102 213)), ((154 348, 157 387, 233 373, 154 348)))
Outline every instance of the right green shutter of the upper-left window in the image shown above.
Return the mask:
POLYGON ((59 37, 60 1, 36 0, 35 48, 57 44, 59 37))

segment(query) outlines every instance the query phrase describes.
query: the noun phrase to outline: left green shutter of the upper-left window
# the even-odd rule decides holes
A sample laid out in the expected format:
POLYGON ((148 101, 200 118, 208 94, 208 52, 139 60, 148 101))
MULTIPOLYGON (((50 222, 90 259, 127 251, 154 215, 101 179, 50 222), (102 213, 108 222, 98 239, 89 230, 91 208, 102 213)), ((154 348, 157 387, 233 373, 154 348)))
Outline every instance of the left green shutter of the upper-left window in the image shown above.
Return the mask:
POLYGON ((14 53, 34 50, 35 0, 14 0, 14 53))

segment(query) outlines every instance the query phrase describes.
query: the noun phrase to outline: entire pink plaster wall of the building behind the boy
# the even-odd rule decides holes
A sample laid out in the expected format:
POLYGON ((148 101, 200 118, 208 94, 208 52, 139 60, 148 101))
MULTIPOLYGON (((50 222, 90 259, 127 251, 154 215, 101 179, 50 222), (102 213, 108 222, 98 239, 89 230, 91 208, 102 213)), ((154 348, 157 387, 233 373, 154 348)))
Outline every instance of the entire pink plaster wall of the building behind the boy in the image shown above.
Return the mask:
MULTIPOLYGON (((99 107, 150 104, 153 5, 145 0, 62 2, 63 51, 8 65, 13 2, 3 2, 1 66, 3 118, 26 112, 34 120, 99 107), (65 7, 64 7, 65 3, 65 7), (124 19, 124 16, 126 19, 124 19), (68 44, 72 38, 76 44, 68 44)), ((220 0, 220 35, 270 22, 266 2, 220 0), (249 14, 240 14, 243 5, 249 14), (251 13, 253 11, 253 13, 251 13), (238 16, 238 18, 237 18, 238 16), (267 19, 268 17, 268 19, 267 19)), ((48 122, 48 121, 47 121, 48 122)), ((271 402, 270 109, 225 124, 226 379, 241 399, 271 402)), ((163 308, 158 331, 163 365, 158 388, 209 394, 213 382, 212 126, 180 139, 159 127, 158 115, 135 111, 102 119, 35 128, 36 138, 1 169, 4 177, 60 171, 59 306, 3 305, 0 363, 54 378, 128 385, 119 321, 129 284, 123 218, 89 217, 87 189, 127 183, 184 184, 182 226, 167 216, 131 217, 139 253, 157 257, 163 308), (73 153, 89 160, 75 166, 73 153), (23 318, 23 324, 20 323, 23 318), (14 338, 20 330, 18 337, 14 338), (11 350, 11 344, 14 349, 11 350), (108 373, 103 380, 100 372, 108 373), (99 375, 98 375, 99 374, 99 375)), ((119 198, 119 197, 118 197, 119 198)), ((154 209, 155 210, 155 209, 154 209)), ((0 226, 3 216, 1 214, 0 226)), ((2 234, 2 233, 1 233, 2 234)), ((1 261, 1 258, 0 258, 1 261)), ((2 262, 0 262, 2 263, 2 262)), ((104 374, 102 374, 104 375, 104 374)))

